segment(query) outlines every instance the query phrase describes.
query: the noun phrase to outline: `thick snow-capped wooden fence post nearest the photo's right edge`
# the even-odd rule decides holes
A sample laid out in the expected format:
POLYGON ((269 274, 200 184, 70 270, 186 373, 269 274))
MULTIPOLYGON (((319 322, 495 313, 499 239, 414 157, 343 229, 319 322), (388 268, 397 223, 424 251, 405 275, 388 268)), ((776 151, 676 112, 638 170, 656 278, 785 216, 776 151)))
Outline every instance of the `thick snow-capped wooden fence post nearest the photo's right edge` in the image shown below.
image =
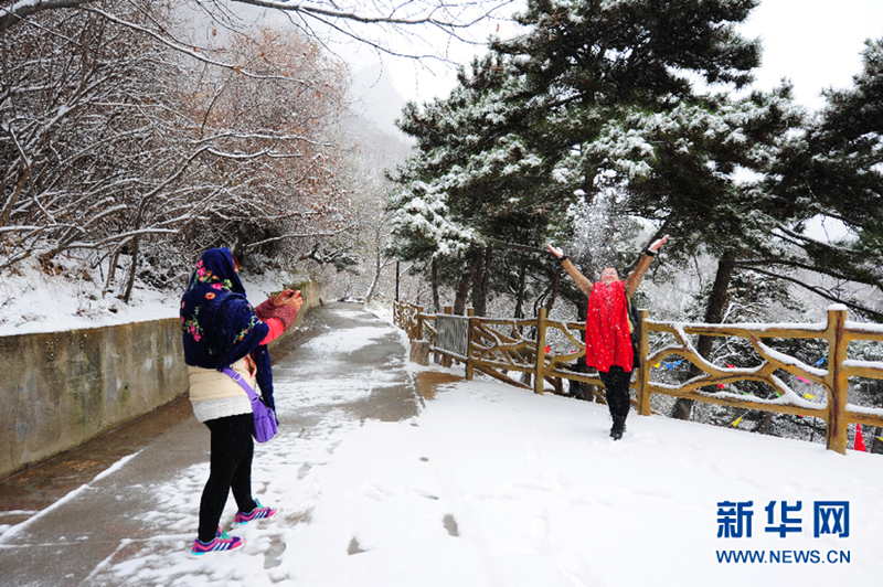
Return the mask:
POLYGON ((843 373, 849 341, 843 340, 847 310, 842 306, 828 308, 828 449, 847 453, 847 389, 849 377, 843 373))

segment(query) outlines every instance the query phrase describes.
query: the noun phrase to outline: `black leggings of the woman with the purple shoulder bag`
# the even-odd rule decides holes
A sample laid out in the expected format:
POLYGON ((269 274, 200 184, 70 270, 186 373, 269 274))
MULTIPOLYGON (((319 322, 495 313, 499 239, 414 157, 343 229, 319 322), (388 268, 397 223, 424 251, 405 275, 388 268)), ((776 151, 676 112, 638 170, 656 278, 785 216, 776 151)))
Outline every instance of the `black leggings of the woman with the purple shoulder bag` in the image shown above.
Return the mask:
POLYGON ((199 538, 210 542, 217 532, 231 489, 241 512, 251 512, 256 506, 252 499, 255 445, 252 440, 252 414, 208 420, 205 426, 212 431, 212 456, 209 481, 200 500, 199 538))

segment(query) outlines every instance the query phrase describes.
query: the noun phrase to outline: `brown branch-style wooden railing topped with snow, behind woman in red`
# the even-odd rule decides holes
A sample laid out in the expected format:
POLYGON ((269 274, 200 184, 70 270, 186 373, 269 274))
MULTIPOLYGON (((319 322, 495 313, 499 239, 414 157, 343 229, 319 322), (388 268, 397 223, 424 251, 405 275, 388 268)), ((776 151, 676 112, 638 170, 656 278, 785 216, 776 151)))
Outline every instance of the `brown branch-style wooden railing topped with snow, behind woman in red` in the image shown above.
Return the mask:
MULTIPOLYGON (((444 313, 450 314, 451 308, 444 313)), ((647 310, 640 311, 639 352, 643 359, 637 366, 637 377, 632 388, 637 399, 632 401, 638 414, 651 414, 652 394, 683 397, 696 402, 727 405, 776 414, 798 414, 825 420, 827 447, 842 455, 847 451, 847 426, 858 423, 883 427, 883 409, 848 405, 847 391, 850 377, 883 380, 883 362, 849 360, 848 348, 852 341, 883 342, 883 325, 864 324, 847 320, 842 306, 828 310, 827 322, 816 324, 688 324, 648 320, 647 310), (669 338, 672 342, 650 353, 650 333, 655 339, 669 338), (689 335, 737 337, 751 343, 759 357, 759 364, 752 367, 720 366, 702 357, 693 346, 689 335), (796 357, 770 348, 764 339, 819 339, 828 344, 828 369, 808 365, 796 357), (680 384, 651 381, 653 365, 678 355, 695 365, 701 374, 680 384), (790 373, 806 382, 821 385, 826 389, 826 401, 809 402, 786 385, 776 372, 790 373), (775 399, 756 395, 734 394, 725 391, 703 391, 709 386, 722 387, 737 381, 755 381, 768 385, 776 392, 775 399)), ((442 357, 442 363, 453 361, 465 364, 466 378, 470 380, 479 371, 496 380, 517 387, 533 389, 542 394, 549 382, 558 393, 562 381, 578 381, 593 386, 600 396, 603 384, 596 373, 582 373, 573 364, 585 356, 583 344, 585 324, 560 322, 546 319, 541 309, 533 319, 498 319, 464 317, 468 320, 467 355, 445 350, 436 345, 438 337, 438 316, 423 312, 423 308, 407 302, 394 307, 396 325, 407 332, 409 340, 425 340, 433 353, 442 357), (546 341, 554 340, 555 351, 546 352, 546 341), (566 350, 561 351, 561 348, 566 350), (513 378, 510 373, 521 373, 513 378), (531 384, 532 381, 532 384, 531 384)))

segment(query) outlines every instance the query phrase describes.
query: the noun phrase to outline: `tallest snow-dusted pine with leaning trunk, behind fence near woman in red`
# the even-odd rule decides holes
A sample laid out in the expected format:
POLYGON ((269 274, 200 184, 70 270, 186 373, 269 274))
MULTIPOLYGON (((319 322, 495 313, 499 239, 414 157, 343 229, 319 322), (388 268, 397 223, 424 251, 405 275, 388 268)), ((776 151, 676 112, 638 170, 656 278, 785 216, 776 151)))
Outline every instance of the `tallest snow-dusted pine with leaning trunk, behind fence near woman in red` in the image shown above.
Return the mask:
MULTIPOLYGON (((759 45, 734 25, 754 6, 532 2, 522 18, 531 34, 496 45, 530 55, 514 63, 545 121, 539 124, 546 130, 542 142, 557 146, 560 177, 582 182, 575 186, 591 194, 602 193, 604 183, 618 188, 625 198, 613 212, 670 233, 669 260, 696 252, 720 259, 709 322, 722 318, 736 260, 770 246, 770 214, 783 213, 756 182, 740 183, 735 174, 766 172, 799 124, 787 87, 734 100, 702 94, 691 82, 738 88, 751 81, 759 45)), ((706 354, 710 343, 701 340, 700 352, 706 354)))

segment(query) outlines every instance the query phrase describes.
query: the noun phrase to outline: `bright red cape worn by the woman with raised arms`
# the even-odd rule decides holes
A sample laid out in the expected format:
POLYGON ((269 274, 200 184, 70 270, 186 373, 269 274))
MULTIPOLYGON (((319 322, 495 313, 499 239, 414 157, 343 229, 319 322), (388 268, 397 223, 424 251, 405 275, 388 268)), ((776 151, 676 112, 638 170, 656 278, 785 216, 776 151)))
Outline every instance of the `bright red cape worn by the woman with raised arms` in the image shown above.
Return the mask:
POLYGON ((586 318, 586 364, 598 371, 611 365, 631 371, 635 360, 628 328, 626 288, 623 281, 592 288, 586 318))

